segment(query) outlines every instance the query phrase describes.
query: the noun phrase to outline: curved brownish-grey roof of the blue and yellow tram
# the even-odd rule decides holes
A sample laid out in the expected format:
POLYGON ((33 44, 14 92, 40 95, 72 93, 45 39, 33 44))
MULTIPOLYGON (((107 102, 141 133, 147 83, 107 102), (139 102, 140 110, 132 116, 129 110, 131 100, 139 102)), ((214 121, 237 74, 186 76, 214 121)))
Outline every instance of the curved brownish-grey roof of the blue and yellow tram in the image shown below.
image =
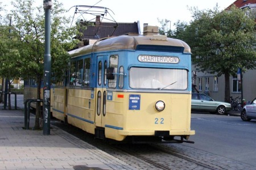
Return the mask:
POLYGON ((93 45, 82 46, 81 48, 68 52, 72 57, 89 54, 92 52, 104 52, 110 50, 135 50, 138 45, 160 45, 183 47, 183 53, 191 53, 191 48, 182 40, 166 38, 165 40, 154 39, 152 36, 118 36, 101 39, 93 45))

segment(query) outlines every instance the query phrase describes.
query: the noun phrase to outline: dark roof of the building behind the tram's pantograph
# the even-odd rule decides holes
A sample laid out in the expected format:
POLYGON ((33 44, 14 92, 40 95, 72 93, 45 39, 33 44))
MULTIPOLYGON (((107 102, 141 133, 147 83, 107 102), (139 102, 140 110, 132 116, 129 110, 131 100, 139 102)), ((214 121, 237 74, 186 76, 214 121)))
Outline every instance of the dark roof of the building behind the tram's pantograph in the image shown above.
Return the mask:
POLYGON ((90 22, 94 25, 88 25, 84 30, 83 39, 102 39, 104 37, 139 34, 138 23, 101 23, 90 22))

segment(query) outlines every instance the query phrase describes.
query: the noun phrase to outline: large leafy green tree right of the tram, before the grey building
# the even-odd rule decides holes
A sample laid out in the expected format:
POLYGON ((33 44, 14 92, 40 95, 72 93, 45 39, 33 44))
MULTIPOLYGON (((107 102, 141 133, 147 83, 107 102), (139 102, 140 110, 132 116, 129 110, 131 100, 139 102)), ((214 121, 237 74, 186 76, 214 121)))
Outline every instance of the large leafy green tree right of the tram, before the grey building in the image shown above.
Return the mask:
MULTIPOLYGON (((201 71, 225 75, 225 101, 229 101, 229 77, 255 69, 255 15, 252 10, 232 6, 229 10, 191 8, 193 21, 176 36, 191 46, 192 62, 201 71)), ((182 30, 181 29, 181 30, 182 30)))

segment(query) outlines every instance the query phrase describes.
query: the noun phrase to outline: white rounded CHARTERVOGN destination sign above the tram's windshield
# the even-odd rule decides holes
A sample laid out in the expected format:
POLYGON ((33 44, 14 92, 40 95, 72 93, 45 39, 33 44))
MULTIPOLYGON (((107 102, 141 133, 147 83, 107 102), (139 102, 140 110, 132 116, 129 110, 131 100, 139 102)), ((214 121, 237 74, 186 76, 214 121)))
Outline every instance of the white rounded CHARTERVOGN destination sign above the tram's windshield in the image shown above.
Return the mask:
POLYGON ((172 56, 147 56, 139 55, 138 60, 140 62, 158 62, 158 63, 179 63, 179 57, 172 56))

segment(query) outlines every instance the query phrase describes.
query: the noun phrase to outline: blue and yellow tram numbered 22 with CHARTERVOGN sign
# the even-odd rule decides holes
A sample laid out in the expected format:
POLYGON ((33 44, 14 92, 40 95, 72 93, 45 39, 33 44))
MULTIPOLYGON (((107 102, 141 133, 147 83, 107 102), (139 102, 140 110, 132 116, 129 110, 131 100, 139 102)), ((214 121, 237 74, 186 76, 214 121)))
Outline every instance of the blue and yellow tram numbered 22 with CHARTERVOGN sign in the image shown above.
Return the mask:
POLYGON ((67 87, 53 87, 53 117, 101 139, 190 142, 191 49, 184 41, 118 36, 69 54, 67 87))

